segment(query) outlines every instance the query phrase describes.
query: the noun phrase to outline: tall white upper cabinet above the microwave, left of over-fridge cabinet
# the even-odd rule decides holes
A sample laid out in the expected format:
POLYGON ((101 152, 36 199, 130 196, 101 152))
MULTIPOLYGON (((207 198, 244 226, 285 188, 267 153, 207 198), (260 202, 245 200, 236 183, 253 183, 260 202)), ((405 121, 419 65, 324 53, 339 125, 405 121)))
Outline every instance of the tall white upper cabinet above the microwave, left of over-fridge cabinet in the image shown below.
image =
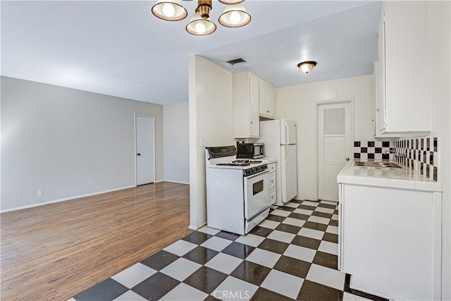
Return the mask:
POLYGON ((259 78, 249 72, 233 75, 233 135, 258 138, 259 78))

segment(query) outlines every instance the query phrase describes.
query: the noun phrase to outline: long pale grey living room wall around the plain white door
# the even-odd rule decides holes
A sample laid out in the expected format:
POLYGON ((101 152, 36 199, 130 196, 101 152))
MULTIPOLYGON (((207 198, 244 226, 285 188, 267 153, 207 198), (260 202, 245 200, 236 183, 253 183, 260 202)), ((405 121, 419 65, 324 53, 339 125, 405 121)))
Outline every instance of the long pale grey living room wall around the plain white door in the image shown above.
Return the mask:
POLYGON ((162 180, 161 105, 1 77, 1 210, 134 186, 134 113, 155 116, 162 180))

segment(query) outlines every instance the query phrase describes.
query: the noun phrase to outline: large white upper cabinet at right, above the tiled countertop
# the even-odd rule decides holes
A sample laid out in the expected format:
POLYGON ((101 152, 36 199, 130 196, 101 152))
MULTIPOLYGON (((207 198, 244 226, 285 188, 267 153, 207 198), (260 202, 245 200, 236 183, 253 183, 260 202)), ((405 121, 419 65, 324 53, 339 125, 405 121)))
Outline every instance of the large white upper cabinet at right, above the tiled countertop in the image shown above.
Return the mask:
POLYGON ((375 64, 375 136, 431 130, 429 1, 384 1, 375 64))

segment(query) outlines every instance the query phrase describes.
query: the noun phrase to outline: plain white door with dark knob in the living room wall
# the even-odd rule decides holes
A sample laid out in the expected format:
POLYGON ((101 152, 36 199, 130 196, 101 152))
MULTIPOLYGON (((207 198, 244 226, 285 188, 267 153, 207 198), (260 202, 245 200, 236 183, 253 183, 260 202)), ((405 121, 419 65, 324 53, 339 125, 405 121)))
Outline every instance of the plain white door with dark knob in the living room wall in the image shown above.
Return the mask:
POLYGON ((135 115, 136 185, 155 182, 155 118, 135 115))

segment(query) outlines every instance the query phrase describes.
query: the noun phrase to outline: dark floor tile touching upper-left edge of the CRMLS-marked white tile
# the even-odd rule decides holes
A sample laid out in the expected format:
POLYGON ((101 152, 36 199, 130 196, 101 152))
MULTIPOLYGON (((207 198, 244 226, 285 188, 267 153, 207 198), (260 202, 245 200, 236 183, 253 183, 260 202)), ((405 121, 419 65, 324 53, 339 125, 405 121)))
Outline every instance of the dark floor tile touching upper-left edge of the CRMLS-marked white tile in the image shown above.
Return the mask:
POLYGON ((209 294, 226 278, 227 275, 220 271, 201 266, 197 271, 186 278, 183 283, 209 294))

